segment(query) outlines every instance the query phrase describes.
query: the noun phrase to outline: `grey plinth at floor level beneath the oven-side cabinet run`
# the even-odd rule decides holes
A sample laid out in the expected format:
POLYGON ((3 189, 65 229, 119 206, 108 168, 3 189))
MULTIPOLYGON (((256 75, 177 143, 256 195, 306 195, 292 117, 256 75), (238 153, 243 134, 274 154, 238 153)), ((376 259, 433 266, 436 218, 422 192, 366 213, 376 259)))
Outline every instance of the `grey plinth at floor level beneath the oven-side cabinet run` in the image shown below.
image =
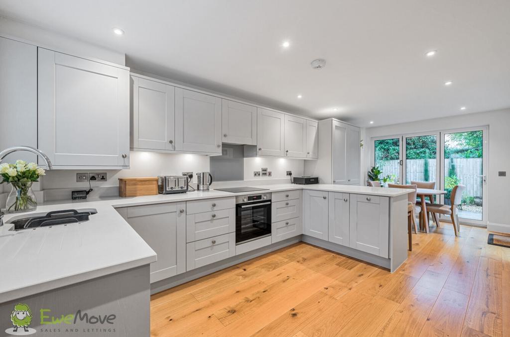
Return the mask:
MULTIPOLYGON (((270 239, 270 238, 269 238, 270 239)), ((280 248, 284 248, 287 246, 290 246, 292 244, 295 244, 297 242, 301 241, 301 236, 297 236, 294 238, 290 238, 284 241, 280 241, 277 243, 273 243, 272 245, 265 246, 256 250, 252 250, 246 253, 242 253, 240 255, 232 256, 229 258, 226 258, 225 260, 218 261, 216 263, 203 266, 197 269, 190 270, 188 272, 185 272, 183 274, 175 275, 170 278, 154 282, 150 284, 150 294, 156 294, 159 292, 162 292, 164 290, 179 286, 179 284, 183 284, 189 281, 192 281, 194 279, 197 279, 202 276, 209 275, 211 273, 214 273, 218 270, 225 269, 234 265, 237 265, 238 263, 251 260, 254 257, 261 256, 267 253, 270 253, 272 251, 278 250, 280 248)))

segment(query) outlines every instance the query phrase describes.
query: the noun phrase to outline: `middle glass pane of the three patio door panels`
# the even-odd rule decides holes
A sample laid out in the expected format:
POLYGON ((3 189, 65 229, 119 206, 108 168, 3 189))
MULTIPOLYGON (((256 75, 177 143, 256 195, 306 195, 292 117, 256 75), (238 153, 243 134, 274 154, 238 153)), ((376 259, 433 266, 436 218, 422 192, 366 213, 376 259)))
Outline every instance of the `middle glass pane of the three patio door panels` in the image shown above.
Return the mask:
MULTIPOLYGON (((417 136, 405 139, 405 181, 436 181, 436 136, 417 136)), ((437 187, 437 184, 436 184, 437 187)))

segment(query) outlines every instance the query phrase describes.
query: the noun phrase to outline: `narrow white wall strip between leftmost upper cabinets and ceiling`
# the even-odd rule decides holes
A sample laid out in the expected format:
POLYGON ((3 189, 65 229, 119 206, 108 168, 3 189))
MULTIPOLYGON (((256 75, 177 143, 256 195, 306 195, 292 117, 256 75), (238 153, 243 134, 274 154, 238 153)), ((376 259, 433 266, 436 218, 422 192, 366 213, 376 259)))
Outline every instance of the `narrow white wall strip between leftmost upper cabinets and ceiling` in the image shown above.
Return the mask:
POLYGON ((34 43, 41 47, 55 49, 62 53, 125 65, 125 55, 123 53, 2 16, 0 16, 0 34, 16 40, 24 40, 27 43, 34 43))

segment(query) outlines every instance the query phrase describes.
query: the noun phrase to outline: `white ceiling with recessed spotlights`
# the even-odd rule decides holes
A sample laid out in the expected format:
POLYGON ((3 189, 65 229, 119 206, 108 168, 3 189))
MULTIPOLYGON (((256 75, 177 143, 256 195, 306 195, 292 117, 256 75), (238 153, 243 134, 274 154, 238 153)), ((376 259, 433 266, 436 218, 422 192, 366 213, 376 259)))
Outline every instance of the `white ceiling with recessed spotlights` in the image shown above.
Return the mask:
POLYGON ((0 13, 319 119, 379 126, 510 107, 508 0, 3 0, 0 13))

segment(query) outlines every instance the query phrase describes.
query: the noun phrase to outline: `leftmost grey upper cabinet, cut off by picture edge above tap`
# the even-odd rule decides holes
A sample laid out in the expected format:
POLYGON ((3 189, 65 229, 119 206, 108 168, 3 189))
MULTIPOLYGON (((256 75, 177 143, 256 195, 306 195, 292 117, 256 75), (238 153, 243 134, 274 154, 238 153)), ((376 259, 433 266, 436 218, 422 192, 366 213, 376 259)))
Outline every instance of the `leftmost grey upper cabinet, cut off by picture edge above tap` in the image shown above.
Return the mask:
MULTIPOLYGON (((0 37, 0 151, 37 147, 37 47, 0 37)), ((4 163, 37 163, 30 152, 9 154, 4 163)))

